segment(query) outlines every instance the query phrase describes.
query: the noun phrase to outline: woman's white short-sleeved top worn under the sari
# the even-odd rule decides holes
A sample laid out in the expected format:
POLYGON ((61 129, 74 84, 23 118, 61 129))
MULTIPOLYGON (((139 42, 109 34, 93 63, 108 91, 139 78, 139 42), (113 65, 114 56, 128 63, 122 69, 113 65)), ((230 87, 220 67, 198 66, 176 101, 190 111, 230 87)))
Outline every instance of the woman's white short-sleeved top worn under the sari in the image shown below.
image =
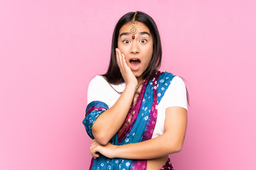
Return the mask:
MULTIPOLYGON (((119 92, 124 91, 126 84, 118 84, 112 85, 112 87, 119 92)), ((96 76, 94 77, 88 86, 87 91, 87 104, 92 101, 102 101, 107 104, 109 108, 111 108, 114 103, 117 101, 121 94, 118 94, 114 89, 112 89, 110 84, 102 77, 96 76)), ((163 98, 158 105, 156 126, 154 128, 154 132, 152 138, 158 137, 159 135, 164 134, 164 120, 166 117, 166 108, 171 106, 178 106, 181 108, 187 107, 187 96, 186 96, 186 86, 181 77, 174 77, 166 90, 163 98)))

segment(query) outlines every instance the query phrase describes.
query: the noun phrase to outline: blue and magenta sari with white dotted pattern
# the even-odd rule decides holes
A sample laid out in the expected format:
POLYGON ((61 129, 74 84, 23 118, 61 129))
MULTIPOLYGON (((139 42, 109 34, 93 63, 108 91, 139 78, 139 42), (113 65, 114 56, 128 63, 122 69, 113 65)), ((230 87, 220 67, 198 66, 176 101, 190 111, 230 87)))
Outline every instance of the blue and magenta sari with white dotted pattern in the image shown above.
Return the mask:
MULTIPOLYGON (((156 125, 158 103, 173 78, 174 75, 169 72, 156 72, 153 79, 145 79, 136 103, 133 105, 134 102, 132 102, 127 118, 120 128, 122 131, 119 130, 110 140, 112 145, 127 145, 151 139, 156 125)), ((102 101, 92 101, 87 105, 85 119, 82 123, 85 125, 87 134, 92 139, 94 139, 92 125, 97 117, 107 109, 109 109, 107 104, 102 101)), ((92 157, 90 170, 146 170, 146 162, 146 159, 109 159, 100 154, 97 159, 92 157)), ((167 163, 171 164, 166 162, 166 166, 167 163)))

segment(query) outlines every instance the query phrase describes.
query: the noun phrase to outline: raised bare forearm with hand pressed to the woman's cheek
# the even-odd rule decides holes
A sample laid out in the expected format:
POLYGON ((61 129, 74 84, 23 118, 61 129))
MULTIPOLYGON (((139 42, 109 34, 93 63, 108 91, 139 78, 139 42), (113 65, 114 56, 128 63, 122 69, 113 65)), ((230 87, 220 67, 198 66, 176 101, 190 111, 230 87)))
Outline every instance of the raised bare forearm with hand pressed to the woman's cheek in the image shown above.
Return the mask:
POLYGON ((107 142, 110 141, 121 128, 122 123, 124 123, 138 83, 131 69, 127 66, 124 55, 121 55, 121 52, 117 50, 116 56, 120 72, 127 85, 117 102, 114 103, 114 106, 102 113, 92 126, 92 135, 101 145, 107 145, 107 142))

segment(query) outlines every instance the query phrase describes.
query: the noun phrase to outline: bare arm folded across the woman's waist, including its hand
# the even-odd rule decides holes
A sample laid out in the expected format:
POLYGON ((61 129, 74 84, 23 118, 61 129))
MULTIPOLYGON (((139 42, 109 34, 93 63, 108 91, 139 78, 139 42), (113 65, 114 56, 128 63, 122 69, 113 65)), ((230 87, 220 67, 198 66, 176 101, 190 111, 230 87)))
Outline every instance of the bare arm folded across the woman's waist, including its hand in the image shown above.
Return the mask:
POLYGON ((186 109, 171 107, 166 109, 166 120, 164 123, 164 134, 151 140, 129 145, 106 146, 92 141, 90 147, 93 157, 98 157, 96 152, 100 152, 106 157, 120 157, 124 159, 154 159, 164 155, 179 152, 183 145, 186 134, 187 114, 186 109))

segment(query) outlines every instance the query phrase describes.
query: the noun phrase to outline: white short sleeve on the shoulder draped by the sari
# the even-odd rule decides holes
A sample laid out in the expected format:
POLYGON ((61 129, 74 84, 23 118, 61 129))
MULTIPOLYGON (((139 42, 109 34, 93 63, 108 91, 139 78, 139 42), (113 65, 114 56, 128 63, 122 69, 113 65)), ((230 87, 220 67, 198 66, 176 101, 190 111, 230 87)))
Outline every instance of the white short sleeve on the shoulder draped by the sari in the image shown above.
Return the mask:
POLYGON ((166 90, 162 100, 164 99, 164 108, 178 106, 188 111, 186 85, 181 77, 174 77, 166 90))

